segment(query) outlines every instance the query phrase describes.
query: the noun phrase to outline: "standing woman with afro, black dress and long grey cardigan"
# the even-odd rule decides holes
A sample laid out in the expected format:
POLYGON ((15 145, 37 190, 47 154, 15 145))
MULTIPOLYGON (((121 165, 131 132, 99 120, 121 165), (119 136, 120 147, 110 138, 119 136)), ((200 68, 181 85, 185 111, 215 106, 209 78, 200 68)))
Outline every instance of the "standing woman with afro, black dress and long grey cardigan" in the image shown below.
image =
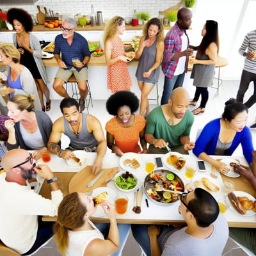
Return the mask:
POLYGON ((38 38, 31 34, 33 21, 28 12, 18 8, 12 8, 7 13, 8 21, 13 25, 17 33, 13 34, 13 44, 20 52, 20 63, 27 67, 35 79, 42 111, 51 109, 50 92, 46 84, 48 82, 46 70, 42 62, 42 50, 38 38), (44 106, 44 96, 46 107, 44 106))

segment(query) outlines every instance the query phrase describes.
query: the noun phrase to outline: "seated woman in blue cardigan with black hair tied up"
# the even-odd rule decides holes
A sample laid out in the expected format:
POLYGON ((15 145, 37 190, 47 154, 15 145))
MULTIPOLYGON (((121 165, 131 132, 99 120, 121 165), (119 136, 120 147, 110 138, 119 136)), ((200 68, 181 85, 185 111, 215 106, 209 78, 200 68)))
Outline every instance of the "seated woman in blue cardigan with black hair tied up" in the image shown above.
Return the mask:
POLYGON ((221 173, 227 173, 227 164, 213 159, 209 155, 231 156, 241 143, 246 161, 252 163, 252 134, 246 127, 248 109, 241 102, 230 99, 225 102, 222 118, 217 118, 205 125, 195 142, 193 153, 212 164, 221 173))

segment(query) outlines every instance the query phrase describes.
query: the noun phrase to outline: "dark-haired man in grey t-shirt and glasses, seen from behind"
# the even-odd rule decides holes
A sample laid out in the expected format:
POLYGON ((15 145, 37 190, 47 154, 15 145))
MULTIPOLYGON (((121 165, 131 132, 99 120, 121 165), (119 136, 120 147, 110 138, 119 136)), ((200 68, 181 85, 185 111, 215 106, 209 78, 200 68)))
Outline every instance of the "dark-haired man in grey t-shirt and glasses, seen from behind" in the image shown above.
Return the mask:
POLYGON ((187 226, 132 225, 132 234, 147 255, 220 256, 228 225, 214 197, 201 188, 180 195, 179 213, 187 226))

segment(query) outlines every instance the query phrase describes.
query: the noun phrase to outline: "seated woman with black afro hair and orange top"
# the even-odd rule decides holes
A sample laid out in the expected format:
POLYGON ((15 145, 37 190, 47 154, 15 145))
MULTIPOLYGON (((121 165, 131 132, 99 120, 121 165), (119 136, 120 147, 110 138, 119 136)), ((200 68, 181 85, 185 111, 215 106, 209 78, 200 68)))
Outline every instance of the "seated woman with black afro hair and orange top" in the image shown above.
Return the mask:
POLYGON ((132 92, 120 91, 106 102, 110 115, 115 115, 106 124, 107 145, 116 156, 126 152, 147 153, 144 138, 146 121, 134 112, 139 108, 139 99, 132 92), (140 145, 138 141, 140 140, 140 145))

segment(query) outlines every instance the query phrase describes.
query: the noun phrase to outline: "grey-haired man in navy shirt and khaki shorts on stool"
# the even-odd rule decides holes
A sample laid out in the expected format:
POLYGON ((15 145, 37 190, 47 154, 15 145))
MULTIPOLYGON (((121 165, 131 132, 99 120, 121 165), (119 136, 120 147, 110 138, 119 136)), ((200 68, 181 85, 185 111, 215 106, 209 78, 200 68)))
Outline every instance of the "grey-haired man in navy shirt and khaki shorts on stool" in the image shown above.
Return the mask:
POLYGON ((58 72, 55 76, 52 87, 61 97, 69 97, 63 84, 68 81, 69 77, 74 74, 79 88, 80 111, 84 111, 84 99, 87 96, 87 63, 90 61, 90 51, 87 40, 76 33, 76 20, 67 18, 60 26, 62 34, 56 36, 54 42, 54 58, 58 66, 58 72), (72 58, 78 58, 75 65, 72 58))

